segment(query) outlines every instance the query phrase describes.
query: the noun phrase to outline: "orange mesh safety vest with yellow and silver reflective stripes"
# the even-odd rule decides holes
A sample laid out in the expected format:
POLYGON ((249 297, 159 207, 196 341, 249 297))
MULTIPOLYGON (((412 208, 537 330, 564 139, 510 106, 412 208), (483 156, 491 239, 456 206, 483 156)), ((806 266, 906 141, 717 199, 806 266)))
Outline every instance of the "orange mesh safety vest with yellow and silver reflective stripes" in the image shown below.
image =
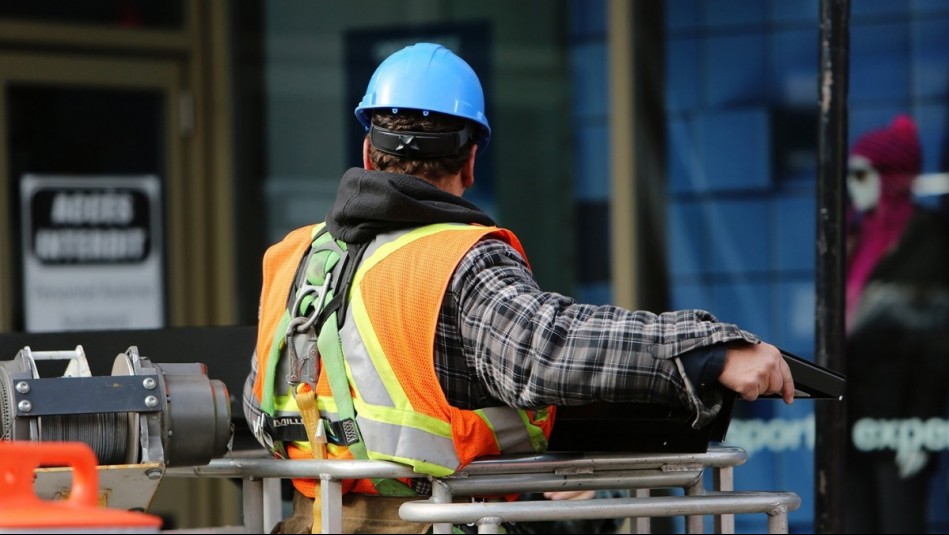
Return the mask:
MULTIPOLYGON (((275 374, 266 370, 273 370, 274 365, 268 367, 268 359, 274 341, 285 335, 276 331, 286 313, 300 259, 321 226, 291 232, 264 256, 259 373, 254 384, 260 403, 273 392, 268 382, 276 380, 275 374)), ((462 257, 487 236, 504 240, 524 256, 510 231, 460 224, 384 234, 366 250, 353 276, 338 338, 368 458, 409 464, 418 472, 440 477, 479 457, 546 449, 554 407, 458 409, 449 405, 435 375, 435 330, 445 291, 462 257)), ((316 391, 321 417, 333 422, 338 414, 327 368, 319 368, 316 391)), ((350 449, 330 443, 327 457, 353 458, 350 449)), ((287 444, 286 451, 291 458, 311 455, 304 441, 287 444)), ((293 482, 305 495, 313 495, 313 480, 293 482)), ((377 493, 379 489, 371 481, 360 480, 344 482, 343 491, 377 493)))

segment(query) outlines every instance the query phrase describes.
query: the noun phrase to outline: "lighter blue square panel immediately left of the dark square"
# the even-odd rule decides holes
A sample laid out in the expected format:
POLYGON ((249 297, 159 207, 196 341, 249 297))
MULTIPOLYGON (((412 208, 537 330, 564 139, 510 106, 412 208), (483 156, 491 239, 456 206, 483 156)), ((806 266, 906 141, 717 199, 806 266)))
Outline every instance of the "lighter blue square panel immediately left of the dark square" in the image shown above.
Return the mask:
POLYGON ((771 185, 771 139, 764 109, 716 111, 698 120, 710 189, 764 189, 771 185))

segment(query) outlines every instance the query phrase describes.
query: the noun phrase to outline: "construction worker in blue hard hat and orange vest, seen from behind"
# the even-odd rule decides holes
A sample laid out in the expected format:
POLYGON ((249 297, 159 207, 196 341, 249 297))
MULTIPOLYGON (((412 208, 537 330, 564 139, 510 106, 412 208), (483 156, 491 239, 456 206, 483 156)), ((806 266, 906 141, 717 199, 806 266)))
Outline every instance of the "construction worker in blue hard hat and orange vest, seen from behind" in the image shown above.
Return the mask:
MULTIPOLYGON (((343 174, 325 222, 264 258, 244 392, 262 444, 439 477, 486 455, 544 451, 556 406, 687 407, 701 426, 726 389, 792 402, 779 350, 708 312, 657 315, 541 290, 514 233, 462 198, 490 140, 484 110, 478 76, 437 44, 399 50, 372 75, 355 109, 363 167, 343 174)), ((293 484, 294 515, 278 529, 308 532, 318 482, 293 484)), ((424 531, 398 505, 426 485, 345 482, 344 529, 424 531)))

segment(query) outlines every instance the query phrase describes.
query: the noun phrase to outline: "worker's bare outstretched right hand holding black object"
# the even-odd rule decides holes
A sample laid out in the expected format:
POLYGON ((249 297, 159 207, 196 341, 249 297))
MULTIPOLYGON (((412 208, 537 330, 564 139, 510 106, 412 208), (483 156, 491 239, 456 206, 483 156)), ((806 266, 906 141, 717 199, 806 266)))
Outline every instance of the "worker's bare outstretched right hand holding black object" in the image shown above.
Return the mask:
POLYGON ((791 369, 778 348, 765 342, 729 344, 718 382, 748 401, 769 394, 781 394, 788 405, 794 401, 791 369))

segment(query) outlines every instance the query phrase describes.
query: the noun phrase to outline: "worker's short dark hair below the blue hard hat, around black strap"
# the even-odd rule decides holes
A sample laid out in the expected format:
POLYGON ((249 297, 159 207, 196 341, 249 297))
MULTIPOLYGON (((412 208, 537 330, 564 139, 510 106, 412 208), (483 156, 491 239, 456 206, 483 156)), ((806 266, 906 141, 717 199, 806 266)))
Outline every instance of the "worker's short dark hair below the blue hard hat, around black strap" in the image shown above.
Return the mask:
MULTIPOLYGON (((372 124, 388 130, 412 132, 457 132, 468 123, 473 123, 459 117, 429 112, 423 115, 418 110, 399 110, 398 113, 374 110, 372 124)), ((457 154, 441 158, 404 158, 387 154, 370 145, 369 159, 373 167, 380 171, 415 175, 431 180, 438 180, 451 176, 464 167, 468 161, 468 154, 473 141, 469 140, 457 154)))

